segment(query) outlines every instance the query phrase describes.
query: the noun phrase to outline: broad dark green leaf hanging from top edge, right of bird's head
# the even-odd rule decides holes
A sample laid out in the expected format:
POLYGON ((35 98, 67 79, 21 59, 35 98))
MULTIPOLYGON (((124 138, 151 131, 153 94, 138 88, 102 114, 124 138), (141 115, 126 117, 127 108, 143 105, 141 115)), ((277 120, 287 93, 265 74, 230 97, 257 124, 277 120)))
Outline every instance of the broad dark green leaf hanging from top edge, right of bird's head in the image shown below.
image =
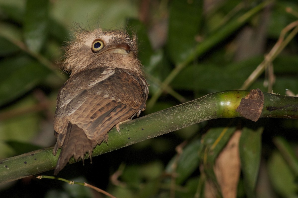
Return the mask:
POLYGON ((171 2, 166 49, 175 64, 183 62, 193 53, 202 10, 203 1, 201 0, 171 2))

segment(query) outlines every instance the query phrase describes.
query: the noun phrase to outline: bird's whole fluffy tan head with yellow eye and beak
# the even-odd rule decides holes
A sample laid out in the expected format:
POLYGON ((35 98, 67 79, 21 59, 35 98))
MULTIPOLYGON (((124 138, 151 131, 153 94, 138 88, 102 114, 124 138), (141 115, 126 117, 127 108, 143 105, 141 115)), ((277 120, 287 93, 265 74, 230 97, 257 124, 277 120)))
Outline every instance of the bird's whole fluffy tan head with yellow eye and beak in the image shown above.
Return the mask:
POLYGON ((97 28, 76 30, 75 38, 64 47, 64 70, 74 75, 85 69, 111 67, 141 70, 136 37, 124 31, 97 28))

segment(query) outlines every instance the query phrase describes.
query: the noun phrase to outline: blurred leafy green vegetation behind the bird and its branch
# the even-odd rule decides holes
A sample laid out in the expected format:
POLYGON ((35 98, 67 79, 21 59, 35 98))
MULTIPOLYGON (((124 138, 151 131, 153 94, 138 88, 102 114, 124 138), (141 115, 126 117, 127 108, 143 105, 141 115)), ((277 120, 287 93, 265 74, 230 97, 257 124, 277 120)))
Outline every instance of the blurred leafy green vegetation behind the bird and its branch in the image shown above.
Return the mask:
MULTIPOLYGON (((146 115, 212 92, 240 89, 283 28, 297 18, 296 0, 1 0, 0 159, 56 142, 56 96, 68 78, 60 68, 61 46, 71 38, 73 22, 137 34, 150 84, 146 115)), ((297 43, 295 36, 246 89, 297 94, 297 43)), ((116 197, 212 197, 204 189, 213 185, 218 194, 212 167, 221 149, 207 157, 204 153, 228 123, 221 148, 236 126, 242 134, 240 180, 234 175, 237 188, 231 191, 237 197, 297 197, 298 122, 290 119, 198 123, 95 157, 92 164, 69 165, 59 176, 116 197)), ((32 176, 0 185, 0 197, 103 196, 32 176)))

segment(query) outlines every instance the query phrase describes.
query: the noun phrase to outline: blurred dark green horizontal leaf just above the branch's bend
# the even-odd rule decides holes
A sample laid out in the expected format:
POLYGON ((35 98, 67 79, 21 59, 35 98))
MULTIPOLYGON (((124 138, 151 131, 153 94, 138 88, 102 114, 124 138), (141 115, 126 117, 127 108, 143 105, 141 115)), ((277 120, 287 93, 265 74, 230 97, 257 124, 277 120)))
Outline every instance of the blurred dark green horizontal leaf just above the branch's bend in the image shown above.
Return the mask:
POLYGON ((207 93, 238 89, 261 61, 261 57, 254 57, 227 66, 213 64, 188 66, 177 75, 171 85, 176 89, 199 89, 207 93))

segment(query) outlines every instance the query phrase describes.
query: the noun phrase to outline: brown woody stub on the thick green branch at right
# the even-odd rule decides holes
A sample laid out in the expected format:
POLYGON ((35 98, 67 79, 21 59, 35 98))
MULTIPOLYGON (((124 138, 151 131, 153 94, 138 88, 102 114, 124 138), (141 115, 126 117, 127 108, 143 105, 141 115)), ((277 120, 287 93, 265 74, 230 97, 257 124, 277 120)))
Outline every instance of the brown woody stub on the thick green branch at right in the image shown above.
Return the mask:
POLYGON ((245 98, 241 99, 240 105, 236 109, 241 116, 256 122, 262 113, 264 106, 264 94, 257 88, 252 89, 245 98))

